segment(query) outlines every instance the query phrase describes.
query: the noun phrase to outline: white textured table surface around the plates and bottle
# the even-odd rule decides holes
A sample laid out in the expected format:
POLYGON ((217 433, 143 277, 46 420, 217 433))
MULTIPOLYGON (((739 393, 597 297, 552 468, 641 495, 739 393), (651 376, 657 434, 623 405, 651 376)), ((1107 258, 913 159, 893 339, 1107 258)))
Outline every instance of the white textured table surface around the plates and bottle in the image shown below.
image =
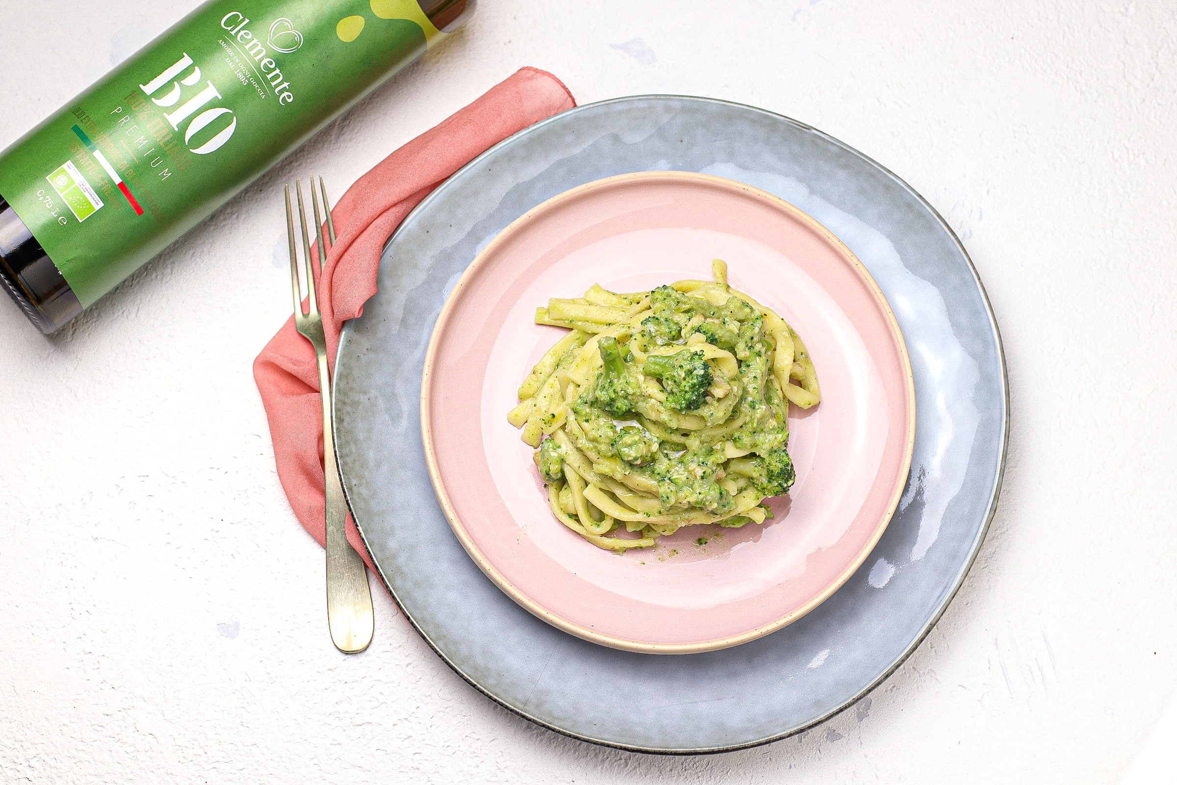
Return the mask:
MULTIPOLYGON (((6 2, 0 147, 194 5, 6 2)), ((0 302, 0 781, 1116 781, 1177 688, 1175 41, 1166 2, 484 0, 60 337, 0 302), (1013 423, 989 539, 915 656, 802 737, 566 739, 383 593, 366 653, 327 637, 251 375, 290 301, 279 184, 338 194, 524 65, 580 102, 814 125, 922 192, 989 288, 1013 423)))

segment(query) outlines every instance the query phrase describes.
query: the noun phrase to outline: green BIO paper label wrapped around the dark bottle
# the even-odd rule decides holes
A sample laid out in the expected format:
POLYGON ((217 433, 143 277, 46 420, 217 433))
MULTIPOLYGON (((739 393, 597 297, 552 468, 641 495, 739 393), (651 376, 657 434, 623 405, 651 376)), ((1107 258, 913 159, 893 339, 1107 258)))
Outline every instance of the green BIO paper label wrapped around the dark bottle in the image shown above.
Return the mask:
POLYGON ((212 0, 0 154, 88 307, 440 33, 415 0, 212 0))

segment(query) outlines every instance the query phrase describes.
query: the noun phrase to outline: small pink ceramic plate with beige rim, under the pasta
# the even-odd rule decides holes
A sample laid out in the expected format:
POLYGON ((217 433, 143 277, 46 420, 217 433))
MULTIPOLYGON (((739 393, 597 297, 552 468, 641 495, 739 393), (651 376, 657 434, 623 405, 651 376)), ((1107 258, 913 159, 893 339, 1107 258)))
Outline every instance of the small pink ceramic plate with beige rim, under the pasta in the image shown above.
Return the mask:
POLYGON ((883 293, 825 227, 740 182, 640 172, 547 200, 478 254, 433 330, 421 433, 454 533, 517 603, 606 646, 689 653, 779 630, 858 568, 907 478, 915 387, 883 293), (710 279, 714 258, 793 326, 817 366, 822 403, 790 417, 797 481, 764 525, 603 551, 552 515, 533 451, 506 421, 519 382, 565 333, 536 325, 536 307, 594 282, 634 292, 710 279))

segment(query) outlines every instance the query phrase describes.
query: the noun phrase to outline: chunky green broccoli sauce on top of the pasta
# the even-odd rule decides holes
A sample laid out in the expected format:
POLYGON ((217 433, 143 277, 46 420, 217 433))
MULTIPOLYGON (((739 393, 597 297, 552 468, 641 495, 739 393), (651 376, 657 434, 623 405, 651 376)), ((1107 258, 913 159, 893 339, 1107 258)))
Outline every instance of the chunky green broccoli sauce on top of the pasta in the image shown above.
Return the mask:
MULTIPOLYGON (((570 406, 580 431, 573 439, 583 438, 579 446, 601 458, 594 471, 614 479, 645 478, 657 485, 664 507, 693 507, 713 514, 734 508, 732 491, 720 484, 725 479, 727 485, 734 483, 736 493, 786 493, 794 479, 785 450, 789 408, 769 381, 769 354, 774 347, 765 332, 764 317, 736 297, 714 305, 670 286, 651 293, 651 308, 653 315, 629 341, 619 342, 613 337, 598 341, 601 372, 596 385, 570 406), (736 378, 722 378, 701 351, 685 345, 686 338, 696 333, 736 355, 736 378), (650 355, 644 364, 634 360, 633 348, 649 354, 674 344, 683 345, 683 350, 650 355), (666 393, 665 405, 646 395, 643 379, 658 380, 666 393), (717 382, 734 398, 717 398, 717 382), (716 434, 676 431, 677 414, 709 419, 717 412, 723 418, 718 424, 739 418, 739 427, 716 434), (618 421, 623 419, 630 424, 618 421), (733 460, 725 473, 729 441, 749 454, 733 460)), ((561 479, 559 448, 553 439, 540 444, 536 464, 545 481, 561 479)), ((750 521, 746 515, 733 515, 719 525, 734 528, 750 521)))

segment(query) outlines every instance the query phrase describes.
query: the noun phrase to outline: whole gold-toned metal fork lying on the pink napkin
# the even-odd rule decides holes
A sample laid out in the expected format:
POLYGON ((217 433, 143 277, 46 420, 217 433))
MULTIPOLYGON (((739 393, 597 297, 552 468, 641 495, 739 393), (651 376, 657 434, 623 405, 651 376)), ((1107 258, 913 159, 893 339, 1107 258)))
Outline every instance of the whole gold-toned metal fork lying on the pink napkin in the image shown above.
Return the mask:
MULTIPOLYGON (((327 214, 327 234, 335 242, 335 227, 331 221, 327 187, 319 178, 322 208, 327 214)), ((319 390, 322 391, 322 466, 327 501, 327 626, 331 640, 345 654, 354 654, 372 643, 375 621, 372 618, 372 592, 367 583, 364 560, 347 541, 347 503, 344 485, 335 464, 335 434, 331 427, 331 378, 327 373, 327 340, 322 332, 322 314, 314 292, 314 270, 311 262, 311 239, 306 232, 306 208, 302 206, 302 184, 294 181, 298 192, 299 225, 302 227, 302 255, 306 259, 306 300, 310 312, 302 312, 302 290, 298 275, 298 252, 294 247, 294 217, 291 213, 291 187, 286 186, 286 234, 291 247, 291 285, 294 290, 294 327, 314 346, 319 361, 319 390)), ((314 208, 315 239, 319 241, 319 268, 327 259, 330 247, 322 241, 322 219, 319 199, 311 179, 311 204, 314 208)))

